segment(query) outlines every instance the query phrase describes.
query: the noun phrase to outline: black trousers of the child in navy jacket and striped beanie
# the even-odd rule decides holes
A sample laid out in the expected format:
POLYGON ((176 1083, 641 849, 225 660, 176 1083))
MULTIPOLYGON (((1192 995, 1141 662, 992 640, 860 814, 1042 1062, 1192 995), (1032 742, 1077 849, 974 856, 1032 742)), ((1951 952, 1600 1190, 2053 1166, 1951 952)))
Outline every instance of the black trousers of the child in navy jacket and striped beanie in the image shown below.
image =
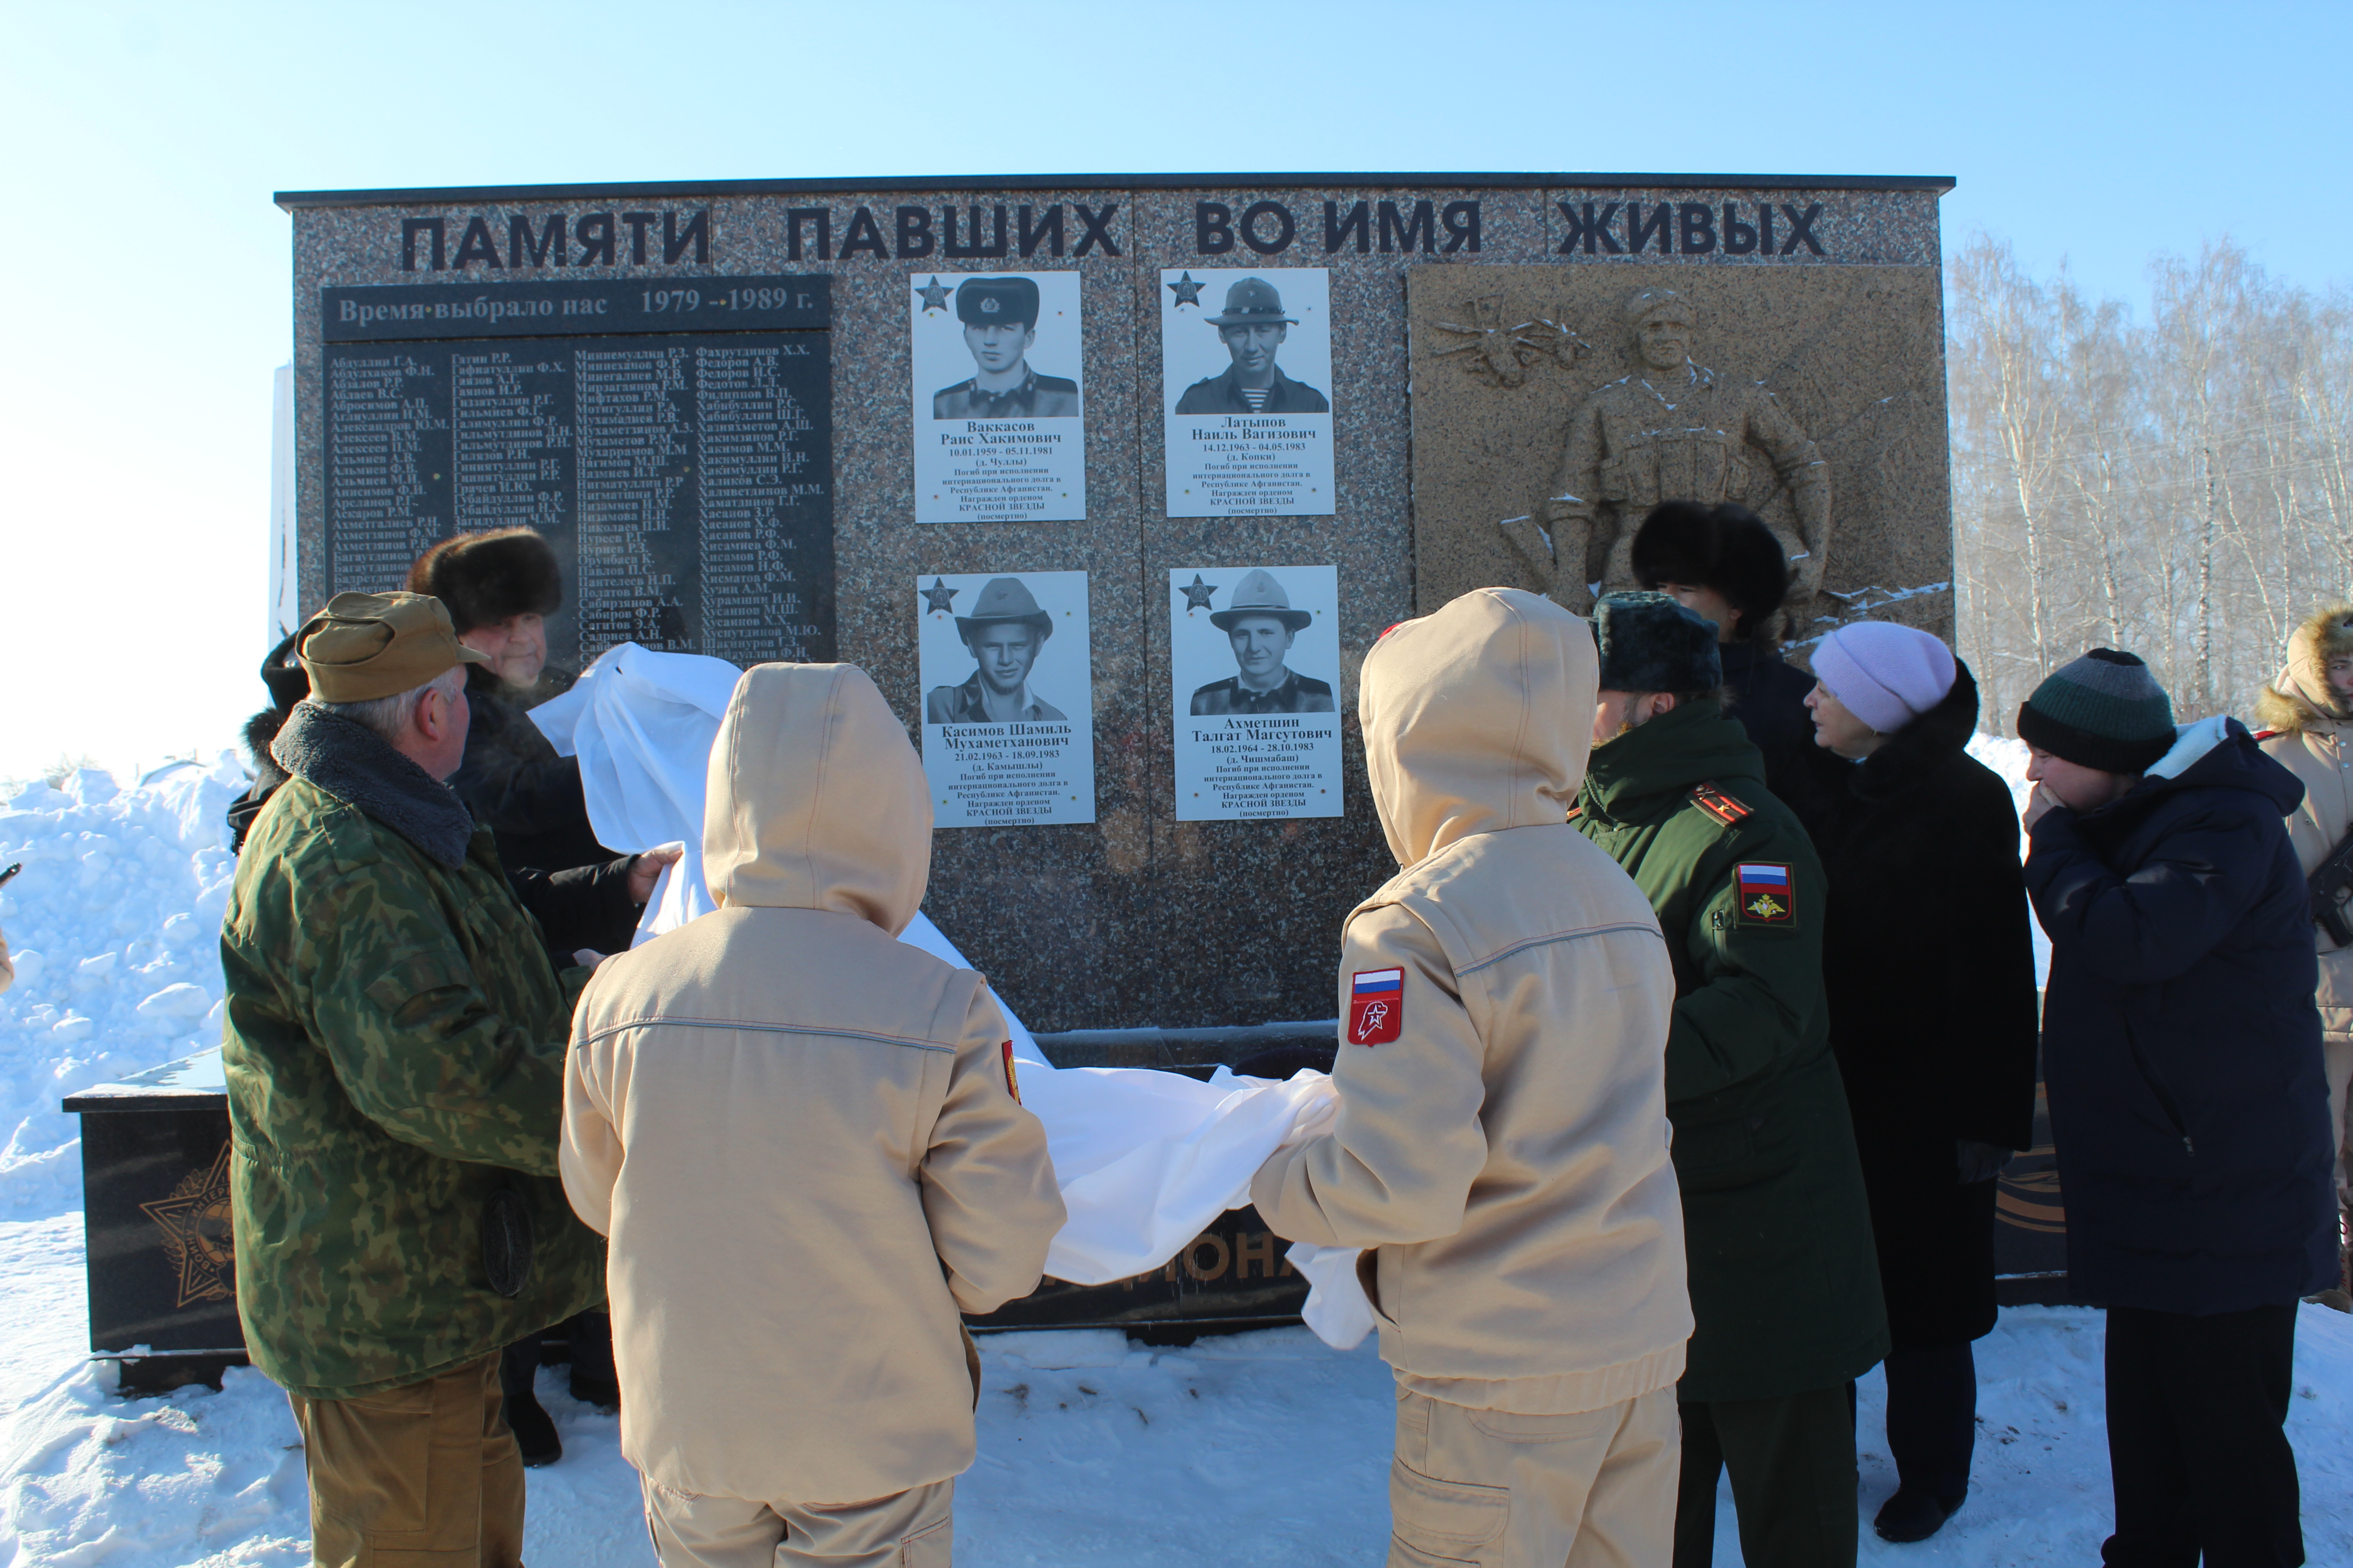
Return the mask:
POLYGON ((2287 1394, 2297 1307, 2188 1316, 2108 1307, 2111 1568, 2304 1561, 2287 1394))

